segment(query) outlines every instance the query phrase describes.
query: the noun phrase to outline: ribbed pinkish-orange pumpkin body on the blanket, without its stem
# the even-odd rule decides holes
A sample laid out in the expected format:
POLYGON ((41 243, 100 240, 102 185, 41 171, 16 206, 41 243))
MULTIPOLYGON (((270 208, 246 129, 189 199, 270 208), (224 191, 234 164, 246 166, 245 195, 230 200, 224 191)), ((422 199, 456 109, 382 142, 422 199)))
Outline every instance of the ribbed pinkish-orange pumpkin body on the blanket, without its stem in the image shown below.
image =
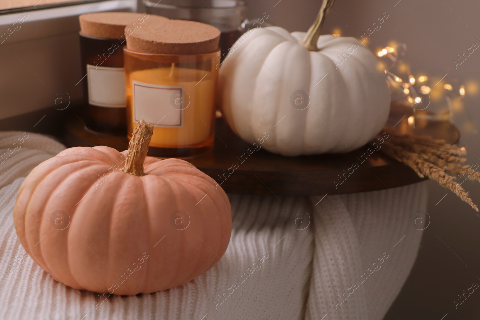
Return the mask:
POLYGON ((70 148, 25 179, 13 212, 17 235, 55 280, 94 292, 151 293, 187 283, 225 253, 231 208, 215 181, 180 159, 147 157, 142 177, 114 169, 126 153, 70 148), (57 210, 70 216, 63 230, 50 222, 57 210), (171 223, 177 210, 190 216, 183 230, 171 223))

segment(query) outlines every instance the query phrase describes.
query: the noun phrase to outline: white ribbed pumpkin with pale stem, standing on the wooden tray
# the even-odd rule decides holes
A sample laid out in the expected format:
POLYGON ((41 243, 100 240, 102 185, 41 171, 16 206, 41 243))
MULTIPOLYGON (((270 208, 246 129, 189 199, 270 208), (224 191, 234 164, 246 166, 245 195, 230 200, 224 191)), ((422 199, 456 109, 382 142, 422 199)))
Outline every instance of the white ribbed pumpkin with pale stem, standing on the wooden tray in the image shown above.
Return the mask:
POLYGON ((356 38, 319 36, 322 10, 309 33, 251 30, 223 61, 219 105, 245 141, 267 132, 262 146, 274 153, 339 153, 384 126, 390 92, 380 61, 356 38))

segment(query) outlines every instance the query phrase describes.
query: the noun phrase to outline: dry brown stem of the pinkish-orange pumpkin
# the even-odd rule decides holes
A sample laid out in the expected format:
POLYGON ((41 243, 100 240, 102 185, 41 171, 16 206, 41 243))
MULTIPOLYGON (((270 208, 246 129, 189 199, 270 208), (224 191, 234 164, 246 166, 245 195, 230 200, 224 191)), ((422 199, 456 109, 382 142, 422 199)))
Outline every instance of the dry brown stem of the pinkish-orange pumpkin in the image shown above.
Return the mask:
POLYGON ((148 144, 153 135, 153 125, 141 119, 133 129, 132 140, 128 143, 128 153, 125 166, 120 171, 134 176, 145 176, 144 161, 148 152, 148 144))

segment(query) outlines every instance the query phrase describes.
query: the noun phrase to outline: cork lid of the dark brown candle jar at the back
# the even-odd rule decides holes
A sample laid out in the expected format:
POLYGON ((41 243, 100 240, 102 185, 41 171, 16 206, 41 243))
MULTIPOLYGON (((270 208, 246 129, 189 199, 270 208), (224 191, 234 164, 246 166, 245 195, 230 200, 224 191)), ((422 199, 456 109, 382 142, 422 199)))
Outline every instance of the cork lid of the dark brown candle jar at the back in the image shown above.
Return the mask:
POLYGON ((82 14, 80 28, 85 36, 115 39, 125 33, 125 27, 140 30, 149 20, 168 21, 167 18, 136 12, 98 12, 82 14))

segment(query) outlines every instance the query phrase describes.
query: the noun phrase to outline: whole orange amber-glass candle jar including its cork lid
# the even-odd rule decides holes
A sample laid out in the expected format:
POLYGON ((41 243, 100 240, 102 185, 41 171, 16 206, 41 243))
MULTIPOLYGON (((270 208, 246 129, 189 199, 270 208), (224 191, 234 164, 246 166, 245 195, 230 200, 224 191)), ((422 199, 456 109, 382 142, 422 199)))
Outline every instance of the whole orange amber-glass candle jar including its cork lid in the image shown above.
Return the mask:
POLYGON ((140 119, 153 124, 149 154, 188 157, 213 149, 219 36, 206 24, 170 20, 127 39, 128 137, 140 119), (210 43, 199 45, 205 38, 210 43))

